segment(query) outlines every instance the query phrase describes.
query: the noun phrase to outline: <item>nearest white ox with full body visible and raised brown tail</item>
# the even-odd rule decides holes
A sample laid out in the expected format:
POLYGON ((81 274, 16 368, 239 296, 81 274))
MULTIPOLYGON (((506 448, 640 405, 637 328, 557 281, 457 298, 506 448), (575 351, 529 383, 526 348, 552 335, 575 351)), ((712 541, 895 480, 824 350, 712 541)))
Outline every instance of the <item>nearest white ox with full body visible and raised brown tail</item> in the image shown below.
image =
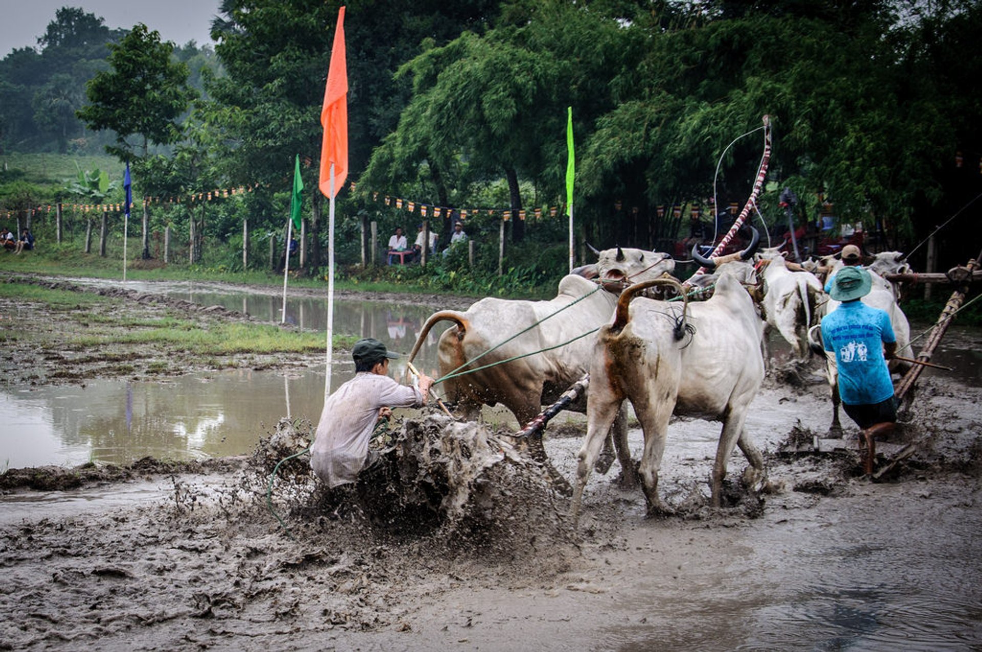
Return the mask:
POLYGON ((594 345, 586 441, 577 455, 574 515, 590 469, 625 399, 644 431, 638 470, 649 515, 670 512, 658 496, 658 472, 673 413, 723 421, 711 478, 713 506, 720 505, 727 462, 736 445, 750 462, 748 481, 763 477, 763 458, 744 429, 750 402, 764 378, 759 346, 763 325, 753 300, 736 278, 723 274, 711 299, 687 307, 653 299, 631 302, 647 285, 624 292, 614 323, 600 329, 594 345))

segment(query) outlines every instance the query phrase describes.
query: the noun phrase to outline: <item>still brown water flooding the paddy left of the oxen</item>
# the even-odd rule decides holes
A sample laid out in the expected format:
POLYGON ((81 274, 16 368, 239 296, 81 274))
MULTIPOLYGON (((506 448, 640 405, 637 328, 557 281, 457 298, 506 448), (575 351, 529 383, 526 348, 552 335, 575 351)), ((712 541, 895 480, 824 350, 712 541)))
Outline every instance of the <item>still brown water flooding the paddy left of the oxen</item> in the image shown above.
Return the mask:
MULTIPOLYGON (((281 314, 281 297, 214 289, 199 292, 186 285, 189 287, 175 288, 168 284, 167 294, 205 305, 221 304, 264 320, 278 320, 281 314)), ((127 287, 161 290, 156 284, 127 287)), ((419 327, 431 313, 432 309, 414 304, 338 300, 334 328, 338 334, 373 337, 392 351, 409 353, 419 327)), ((303 329, 325 330, 325 300, 288 299, 287 320, 303 329)), ((437 376, 436 335, 428 340, 415 364, 437 376)), ((394 360, 393 375, 401 377, 405 366, 394 360)), ((336 357, 332 390, 354 372, 349 358, 336 357)), ((4 388, 0 390, 0 405, 5 406, 6 414, 0 428, 0 469, 246 453, 283 416, 316 422, 324 403, 324 379, 320 366, 288 372, 237 370, 166 382, 94 379, 84 387, 4 388)))

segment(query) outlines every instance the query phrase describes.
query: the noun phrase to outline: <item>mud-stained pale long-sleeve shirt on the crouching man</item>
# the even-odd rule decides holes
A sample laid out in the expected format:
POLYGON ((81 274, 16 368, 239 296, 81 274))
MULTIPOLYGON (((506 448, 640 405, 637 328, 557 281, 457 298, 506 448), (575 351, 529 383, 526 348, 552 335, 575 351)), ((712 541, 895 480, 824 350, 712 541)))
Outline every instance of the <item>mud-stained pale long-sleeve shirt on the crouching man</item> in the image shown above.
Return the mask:
POLYGON ((419 407, 423 395, 389 376, 361 371, 324 404, 310 467, 329 487, 354 482, 368 457, 380 407, 419 407))

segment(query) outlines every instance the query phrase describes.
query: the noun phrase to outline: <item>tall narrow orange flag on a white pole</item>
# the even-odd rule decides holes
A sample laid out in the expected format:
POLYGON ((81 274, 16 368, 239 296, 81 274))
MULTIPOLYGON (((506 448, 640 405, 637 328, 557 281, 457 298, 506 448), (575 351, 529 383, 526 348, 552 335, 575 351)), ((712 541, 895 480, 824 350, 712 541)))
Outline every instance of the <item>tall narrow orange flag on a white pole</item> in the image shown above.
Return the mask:
POLYGON ((320 147, 320 182, 325 196, 334 197, 345 186, 348 177, 348 62, 345 56, 345 8, 338 11, 334 30, 331 66, 324 89, 324 107, 320 110, 324 139, 320 147), (331 164, 334 163, 334 192, 331 192, 331 164))

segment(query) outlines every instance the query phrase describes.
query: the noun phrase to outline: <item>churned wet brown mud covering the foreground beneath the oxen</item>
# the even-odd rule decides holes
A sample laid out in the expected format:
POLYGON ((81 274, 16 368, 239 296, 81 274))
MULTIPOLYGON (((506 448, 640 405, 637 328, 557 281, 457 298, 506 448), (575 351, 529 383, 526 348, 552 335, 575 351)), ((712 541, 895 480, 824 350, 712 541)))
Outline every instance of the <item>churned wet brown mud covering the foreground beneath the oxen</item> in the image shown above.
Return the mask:
MULTIPOLYGON (((126 299, 135 316, 165 309, 126 299)), ((57 348, 58 329, 41 332, 57 315, 27 307, 37 339, 5 358, 0 381, 112 375, 38 354, 42 340, 57 348)), ((591 475, 574 529, 570 500, 504 433, 430 411, 393 424, 386 463, 335 494, 303 457, 270 483, 305 445, 305 422, 281 422, 241 458, 9 469, 0 649, 979 649, 982 389, 922 377, 884 443, 916 452, 872 482, 854 451, 788 452, 824 434, 830 402, 823 383, 778 376, 789 374, 765 381, 747 424, 768 491, 740 486, 736 452, 727 506, 710 509, 719 426, 679 420, 660 486, 677 516, 661 519, 644 517, 615 462, 591 475)), ((546 449, 572 480, 585 428, 558 420, 546 449)), ((636 460, 637 428, 629 441, 636 460)))

